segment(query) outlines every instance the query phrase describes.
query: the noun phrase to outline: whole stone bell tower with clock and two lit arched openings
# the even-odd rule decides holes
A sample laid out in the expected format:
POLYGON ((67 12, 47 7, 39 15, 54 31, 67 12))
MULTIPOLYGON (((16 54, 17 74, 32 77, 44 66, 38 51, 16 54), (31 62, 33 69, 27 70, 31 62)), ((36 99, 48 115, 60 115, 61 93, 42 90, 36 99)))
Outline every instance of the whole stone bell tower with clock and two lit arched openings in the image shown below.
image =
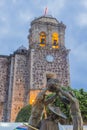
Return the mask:
POLYGON ((51 16, 42 16, 31 22, 28 36, 31 103, 50 78, 57 78, 62 86, 70 85, 65 28, 62 22, 51 16))

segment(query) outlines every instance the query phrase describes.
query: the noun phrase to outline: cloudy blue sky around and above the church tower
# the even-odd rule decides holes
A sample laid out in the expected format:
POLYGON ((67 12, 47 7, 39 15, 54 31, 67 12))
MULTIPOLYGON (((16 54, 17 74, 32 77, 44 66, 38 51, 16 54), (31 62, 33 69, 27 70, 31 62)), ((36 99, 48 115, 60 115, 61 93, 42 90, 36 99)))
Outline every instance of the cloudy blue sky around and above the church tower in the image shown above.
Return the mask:
POLYGON ((45 7, 67 26, 71 87, 87 91, 87 0, 0 0, 0 55, 12 54, 21 45, 28 48, 30 22, 45 7))

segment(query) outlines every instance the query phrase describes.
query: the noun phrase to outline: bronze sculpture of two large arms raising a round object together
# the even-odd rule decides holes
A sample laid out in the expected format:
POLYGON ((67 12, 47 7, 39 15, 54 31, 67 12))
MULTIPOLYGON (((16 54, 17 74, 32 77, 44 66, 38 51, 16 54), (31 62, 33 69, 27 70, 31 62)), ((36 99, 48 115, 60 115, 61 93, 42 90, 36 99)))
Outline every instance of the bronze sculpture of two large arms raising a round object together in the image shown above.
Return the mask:
MULTIPOLYGON (((73 121, 73 130, 83 130, 83 121, 82 121, 81 112, 79 109, 78 100, 75 98, 72 92, 66 92, 65 90, 63 90, 57 79, 48 80, 46 88, 37 95, 34 105, 32 107, 32 112, 29 119, 29 125, 37 128, 39 122, 42 120, 41 117, 43 114, 44 106, 51 103, 56 98, 56 96, 60 97, 60 99, 64 103, 70 104, 70 112, 71 112, 71 117, 73 121), (47 90, 50 92, 55 92, 56 94, 50 99, 45 100, 45 93, 47 90)), ((48 117, 45 120, 45 122, 43 121, 40 127, 40 130, 51 130, 51 129, 59 130, 58 126, 56 127, 55 123, 54 123, 55 125, 53 128, 50 128, 50 126, 48 129, 44 128, 47 124, 49 124, 48 119, 51 119, 51 121, 55 122, 56 118, 58 118, 58 114, 57 116, 55 115, 53 116, 52 114, 51 117, 48 117), (46 124, 46 122, 48 123, 46 124)), ((51 125, 53 122, 51 122, 51 125)))

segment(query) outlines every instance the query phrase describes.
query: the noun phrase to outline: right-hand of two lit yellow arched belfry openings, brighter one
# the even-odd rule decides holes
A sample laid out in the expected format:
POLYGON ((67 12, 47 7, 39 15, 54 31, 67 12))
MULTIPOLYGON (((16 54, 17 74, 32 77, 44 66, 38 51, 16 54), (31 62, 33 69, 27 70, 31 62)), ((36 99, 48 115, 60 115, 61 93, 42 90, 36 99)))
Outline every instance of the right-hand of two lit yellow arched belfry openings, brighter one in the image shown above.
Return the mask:
POLYGON ((59 48, 59 35, 58 33, 54 32, 52 34, 52 48, 59 48))

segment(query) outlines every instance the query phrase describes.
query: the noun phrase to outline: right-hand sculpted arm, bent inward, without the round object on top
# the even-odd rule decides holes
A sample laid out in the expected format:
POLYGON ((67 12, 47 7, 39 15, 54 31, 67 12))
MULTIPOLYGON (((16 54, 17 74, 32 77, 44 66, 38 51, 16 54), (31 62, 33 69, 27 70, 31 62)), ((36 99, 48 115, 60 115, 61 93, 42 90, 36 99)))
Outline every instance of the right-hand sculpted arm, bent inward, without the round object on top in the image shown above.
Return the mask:
POLYGON ((70 101, 70 113, 73 121, 73 130, 83 130, 83 120, 79 109, 79 101, 72 92, 66 92, 59 89, 62 95, 66 96, 70 101))

